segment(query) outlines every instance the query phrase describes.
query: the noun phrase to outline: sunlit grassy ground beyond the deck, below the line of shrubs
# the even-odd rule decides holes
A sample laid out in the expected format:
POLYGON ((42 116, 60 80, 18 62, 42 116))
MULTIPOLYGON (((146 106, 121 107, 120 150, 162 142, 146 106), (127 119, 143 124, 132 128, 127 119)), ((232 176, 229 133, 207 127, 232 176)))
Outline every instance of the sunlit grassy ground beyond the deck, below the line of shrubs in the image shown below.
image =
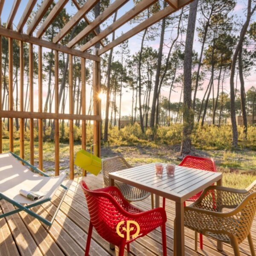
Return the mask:
MULTIPOLYGON (((19 154, 19 141, 15 140, 15 153, 19 154)), ((9 140, 3 140, 3 151, 8 151, 9 140)), ((76 143, 75 153, 81 149, 76 143)), ((102 146, 102 158, 120 155, 133 166, 146 163, 172 162, 180 163, 178 158, 180 145, 150 144, 150 145, 118 145, 102 146)), ((212 157, 217 165, 217 170, 223 173, 224 186, 244 188, 256 180, 256 154, 254 150, 243 148, 236 151, 225 150, 200 150, 192 148, 191 154, 196 156, 212 157)), ((60 143, 60 169, 69 172, 69 145, 60 143)), ((29 142, 25 143, 25 159, 29 160, 29 142)), ((35 165, 38 164, 38 145, 35 142, 35 165)), ((44 171, 49 175, 54 174, 54 143, 44 143, 44 171)), ((75 168, 76 175, 81 175, 81 169, 75 168)))

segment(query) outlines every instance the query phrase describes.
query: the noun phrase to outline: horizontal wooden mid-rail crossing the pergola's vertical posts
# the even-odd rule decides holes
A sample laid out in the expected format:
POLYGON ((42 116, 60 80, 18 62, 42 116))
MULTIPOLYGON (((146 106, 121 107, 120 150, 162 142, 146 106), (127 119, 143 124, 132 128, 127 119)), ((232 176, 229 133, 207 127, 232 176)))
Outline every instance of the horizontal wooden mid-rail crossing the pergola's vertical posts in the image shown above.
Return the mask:
POLYGON ((64 120, 101 120, 100 116, 94 115, 76 115, 76 114, 55 114, 55 113, 39 113, 39 112, 21 112, 21 111, 0 111, 2 118, 33 118, 33 119, 64 119, 64 120))

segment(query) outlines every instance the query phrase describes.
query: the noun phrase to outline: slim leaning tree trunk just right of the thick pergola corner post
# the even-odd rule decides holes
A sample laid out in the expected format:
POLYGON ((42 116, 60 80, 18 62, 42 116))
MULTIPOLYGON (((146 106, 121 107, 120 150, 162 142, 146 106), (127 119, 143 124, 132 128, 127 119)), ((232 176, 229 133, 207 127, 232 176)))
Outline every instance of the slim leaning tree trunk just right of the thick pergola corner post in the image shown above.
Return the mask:
MULTIPOLYGON (((113 22, 116 21, 117 12, 115 12, 113 22)), ((112 41, 115 40, 115 31, 112 33, 112 41)), ((105 126, 104 126, 104 142, 108 141, 108 116, 109 116, 109 105, 110 105, 110 76, 111 76, 111 63, 113 56, 113 48, 110 50, 108 56, 108 70, 107 70, 107 99, 106 99, 106 110, 105 110, 105 126)))

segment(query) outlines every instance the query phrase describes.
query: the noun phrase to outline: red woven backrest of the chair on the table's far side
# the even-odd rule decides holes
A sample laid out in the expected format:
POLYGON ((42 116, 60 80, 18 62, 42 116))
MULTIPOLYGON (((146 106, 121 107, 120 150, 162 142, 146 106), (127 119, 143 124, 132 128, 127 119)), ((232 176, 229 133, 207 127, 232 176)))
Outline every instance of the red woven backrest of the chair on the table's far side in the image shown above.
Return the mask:
POLYGON ((186 157, 183 158, 179 166, 206 170, 209 172, 217 172, 214 160, 212 158, 207 157, 195 157, 187 155, 186 157))

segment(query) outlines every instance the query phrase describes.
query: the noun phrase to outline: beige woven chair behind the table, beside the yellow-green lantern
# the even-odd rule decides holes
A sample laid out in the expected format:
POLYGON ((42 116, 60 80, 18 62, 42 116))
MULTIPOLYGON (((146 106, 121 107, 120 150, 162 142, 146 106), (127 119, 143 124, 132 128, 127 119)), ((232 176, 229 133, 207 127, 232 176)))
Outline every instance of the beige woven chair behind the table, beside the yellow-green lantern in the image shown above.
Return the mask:
MULTIPOLYGON (((110 172, 117 172, 128 168, 132 168, 132 166, 130 166, 123 157, 116 156, 102 159, 104 185, 106 187, 109 186, 108 174, 110 172)), ((143 189, 139 189, 119 181, 115 181, 115 186, 120 189, 125 199, 130 202, 143 200, 151 194, 143 189)), ((153 194, 151 194, 151 207, 152 209, 154 208, 153 194)))

